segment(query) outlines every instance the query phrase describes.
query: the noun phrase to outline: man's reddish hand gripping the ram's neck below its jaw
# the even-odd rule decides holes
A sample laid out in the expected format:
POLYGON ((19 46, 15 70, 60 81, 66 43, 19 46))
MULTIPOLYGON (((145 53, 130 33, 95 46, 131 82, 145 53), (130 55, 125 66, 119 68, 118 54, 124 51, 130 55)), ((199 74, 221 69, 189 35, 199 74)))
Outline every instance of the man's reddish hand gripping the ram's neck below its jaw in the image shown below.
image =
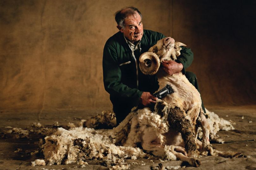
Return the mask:
POLYGON ((162 61, 162 66, 163 70, 169 75, 173 75, 174 73, 180 72, 183 69, 183 65, 181 63, 177 63, 173 60, 162 61))

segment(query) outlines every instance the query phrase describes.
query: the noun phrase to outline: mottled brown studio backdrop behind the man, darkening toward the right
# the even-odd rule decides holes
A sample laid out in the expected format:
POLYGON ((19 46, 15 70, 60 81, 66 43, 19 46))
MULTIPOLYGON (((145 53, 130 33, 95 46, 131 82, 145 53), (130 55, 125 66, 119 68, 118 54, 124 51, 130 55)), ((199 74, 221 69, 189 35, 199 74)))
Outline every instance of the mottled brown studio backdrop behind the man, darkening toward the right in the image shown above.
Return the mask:
POLYGON ((111 108, 102 51, 115 11, 135 6, 144 29, 194 52, 205 105, 256 102, 255 1, 0 1, 0 110, 111 108))

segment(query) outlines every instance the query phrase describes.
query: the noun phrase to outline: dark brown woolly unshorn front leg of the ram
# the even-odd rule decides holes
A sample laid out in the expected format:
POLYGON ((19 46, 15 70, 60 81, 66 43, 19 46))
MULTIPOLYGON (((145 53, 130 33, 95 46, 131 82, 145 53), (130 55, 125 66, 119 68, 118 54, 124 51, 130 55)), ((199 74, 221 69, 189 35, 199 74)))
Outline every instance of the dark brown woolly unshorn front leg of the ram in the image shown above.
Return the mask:
POLYGON ((177 132, 181 133, 181 137, 185 142, 185 149, 189 156, 197 157, 197 144, 195 139, 194 127, 189 118, 178 107, 171 108, 168 113, 168 122, 177 132))

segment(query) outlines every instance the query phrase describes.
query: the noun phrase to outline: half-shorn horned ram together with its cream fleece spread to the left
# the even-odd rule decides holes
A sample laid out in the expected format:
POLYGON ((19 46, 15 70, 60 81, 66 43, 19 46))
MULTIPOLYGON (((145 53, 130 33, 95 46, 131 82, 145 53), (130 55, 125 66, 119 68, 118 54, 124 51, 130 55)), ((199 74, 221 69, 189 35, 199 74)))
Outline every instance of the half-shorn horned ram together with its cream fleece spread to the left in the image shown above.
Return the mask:
POLYGON ((198 167, 201 164, 198 157, 207 153, 224 157, 242 156, 241 153, 221 152, 211 147, 210 127, 201 108, 200 94, 181 72, 169 76, 159 69, 162 60, 175 60, 180 55, 181 45, 185 44, 175 43, 174 39, 167 37, 139 58, 142 72, 157 74, 160 89, 170 84, 174 93, 163 100, 158 99, 154 110, 145 107, 131 111, 113 129, 58 128, 57 132, 45 138, 46 143, 42 146, 46 163, 99 160, 105 166, 128 168, 123 159, 148 158, 148 153, 151 153, 167 160, 187 161, 198 167), (198 126, 202 127, 202 142, 197 139, 198 126))

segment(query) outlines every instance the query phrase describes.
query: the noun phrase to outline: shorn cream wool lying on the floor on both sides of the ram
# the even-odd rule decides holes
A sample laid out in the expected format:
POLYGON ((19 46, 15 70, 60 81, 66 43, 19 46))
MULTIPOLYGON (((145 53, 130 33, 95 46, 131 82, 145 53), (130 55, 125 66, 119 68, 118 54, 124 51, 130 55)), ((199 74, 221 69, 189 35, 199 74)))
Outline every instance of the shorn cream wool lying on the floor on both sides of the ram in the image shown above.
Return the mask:
MULTIPOLYGON (((80 167, 85 167, 88 164, 86 161, 97 160, 100 165, 110 167, 111 169, 127 169, 129 168, 129 164, 125 163, 125 159, 136 160, 137 158, 153 157, 139 147, 127 144, 127 136, 131 129, 131 119, 135 114, 140 115, 138 119, 141 119, 139 120, 141 123, 152 124, 154 126, 154 123, 161 122, 159 115, 149 113, 148 111, 147 109, 143 109, 138 110, 137 113, 130 113, 118 127, 113 129, 96 129, 115 126, 113 112, 103 111, 102 114, 93 116, 89 120, 81 120, 79 125, 69 123, 68 126, 63 127, 56 125, 44 127, 40 123, 34 123, 27 130, 6 127, 10 130, 4 131, 3 136, 9 137, 9 135, 13 134, 13 138, 15 139, 30 138, 32 133, 46 136, 45 143, 43 139, 40 139, 40 149, 36 150, 36 152, 40 152, 40 150, 43 152, 44 160, 37 159, 32 162, 32 166, 59 165, 76 162, 80 167)), ((206 117, 210 125, 210 139, 222 143, 223 140, 216 133, 219 130, 234 129, 231 123, 232 121, 219 118, 218 115, 208 110, 206 117)), ((163 130, 167 130, 166 128, 163 130)), ((200 130, 198 132, 199 137, 202 134, 200 130)), ((139 134, 141 132, 137 133, 139 134)), ((132 134, 132 136, 138 134, 132 134)), ((175 160, 172 156, 162 159, 175 160)))

